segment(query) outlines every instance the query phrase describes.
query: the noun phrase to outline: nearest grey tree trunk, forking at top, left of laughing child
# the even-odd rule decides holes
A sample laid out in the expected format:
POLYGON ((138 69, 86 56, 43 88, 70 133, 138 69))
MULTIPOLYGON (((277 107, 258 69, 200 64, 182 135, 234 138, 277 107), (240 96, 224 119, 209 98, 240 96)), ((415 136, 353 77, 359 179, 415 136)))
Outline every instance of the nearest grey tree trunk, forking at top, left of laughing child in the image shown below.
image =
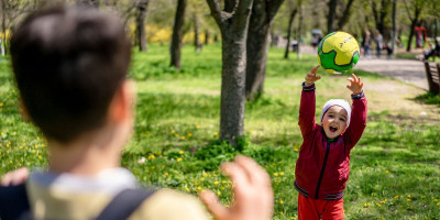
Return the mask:
POLYGON ((207 0, 222 36, 220 139, 238 147, 244 128, 246 36, 253 0, 207 0))

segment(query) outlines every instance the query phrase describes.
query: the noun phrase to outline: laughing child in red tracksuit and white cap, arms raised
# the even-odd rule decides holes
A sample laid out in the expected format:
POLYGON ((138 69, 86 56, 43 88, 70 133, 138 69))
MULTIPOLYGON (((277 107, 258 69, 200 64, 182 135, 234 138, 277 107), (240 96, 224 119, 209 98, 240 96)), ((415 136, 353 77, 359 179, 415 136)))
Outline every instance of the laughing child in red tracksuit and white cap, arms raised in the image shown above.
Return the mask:
POLYGON ((315 119, 315 81, 320 79, 314 67, 302 84, 299 128, 302 145, 295 168, 298 190, 298 219, 343 219, 343 190, 350 173, 350 151, 366 125, 366 99, 363 82, 354 74, 346 86, 352 91, 353 109, 343 99, 329 100, 315 119))

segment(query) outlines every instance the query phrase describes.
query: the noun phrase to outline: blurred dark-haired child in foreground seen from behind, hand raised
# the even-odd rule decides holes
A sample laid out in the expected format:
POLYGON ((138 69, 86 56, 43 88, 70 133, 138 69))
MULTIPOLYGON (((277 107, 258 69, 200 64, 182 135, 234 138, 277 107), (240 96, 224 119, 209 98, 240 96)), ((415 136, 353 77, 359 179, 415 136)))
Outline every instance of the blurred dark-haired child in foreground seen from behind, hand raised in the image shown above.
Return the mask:
MULTIPOLYGON (((88 9, 36 11, 15 29, 10 51, 23 114, 42 131, 51 156, 47 170, 3 178, 26 180, 0 188, 0 219, 210 219, 197 198, 140 189, 120 167, 135 107, 134 81, 127 79, 131 44, 120 21, 88 9)), ((222 170, 234 183, 233 204, 227 209, 213 193, 201 194, 212 215, 271 219, 267 173, 244 156, 222 170)))

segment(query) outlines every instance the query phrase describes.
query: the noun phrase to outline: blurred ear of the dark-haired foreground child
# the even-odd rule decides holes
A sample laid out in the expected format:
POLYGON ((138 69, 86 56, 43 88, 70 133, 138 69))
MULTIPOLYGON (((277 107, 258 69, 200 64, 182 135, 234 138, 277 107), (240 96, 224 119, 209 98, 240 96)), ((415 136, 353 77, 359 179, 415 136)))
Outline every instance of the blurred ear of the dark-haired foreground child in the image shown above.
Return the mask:
POLYGON ((135 96, 135 82, 131 79, 125 79, 110 102, 108 116, 110 120, 118 122, 132 120, 135 96))

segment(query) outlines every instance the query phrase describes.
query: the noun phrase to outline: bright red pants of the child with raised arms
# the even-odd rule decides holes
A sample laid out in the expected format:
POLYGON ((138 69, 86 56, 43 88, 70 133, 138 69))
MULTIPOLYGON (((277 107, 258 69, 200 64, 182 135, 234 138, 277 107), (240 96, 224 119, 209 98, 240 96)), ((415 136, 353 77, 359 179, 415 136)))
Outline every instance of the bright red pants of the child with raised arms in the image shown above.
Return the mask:
POLYGON ((298 220, 342 220, 343 198, 321 200, 298 194, 298 220))

